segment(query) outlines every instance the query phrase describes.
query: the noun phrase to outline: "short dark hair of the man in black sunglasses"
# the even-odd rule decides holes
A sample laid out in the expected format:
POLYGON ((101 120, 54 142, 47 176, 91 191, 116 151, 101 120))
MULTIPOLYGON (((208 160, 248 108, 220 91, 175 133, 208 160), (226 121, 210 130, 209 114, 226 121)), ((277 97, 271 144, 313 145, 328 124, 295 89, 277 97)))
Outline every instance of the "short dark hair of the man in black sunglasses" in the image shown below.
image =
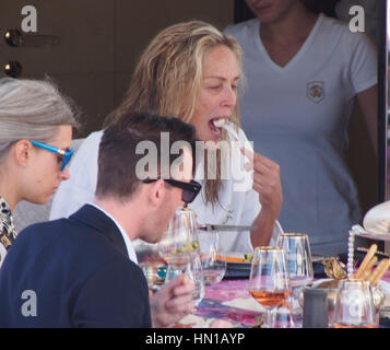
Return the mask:
MULTIPOLYGON (((119 121, 108 126, 103 133, 99 154, 96 196, 129 198, 143 178, 139 178, 135 166, 145 154, 137 154, 137 145, 142 141, 151 141, 157 149, 157 173, 161 173, 161 158, 169 160, 169 167, 180 156, 162 154, 162 132, 169 133, 169 150, 176 141, 186 141, 191 147, 192 172, 196 160, 196 129, 192 125, 175 117, 162 117, 147 112, 129 113, 119 121)), ((153 166, 153 164, 152 164, 153 166)))

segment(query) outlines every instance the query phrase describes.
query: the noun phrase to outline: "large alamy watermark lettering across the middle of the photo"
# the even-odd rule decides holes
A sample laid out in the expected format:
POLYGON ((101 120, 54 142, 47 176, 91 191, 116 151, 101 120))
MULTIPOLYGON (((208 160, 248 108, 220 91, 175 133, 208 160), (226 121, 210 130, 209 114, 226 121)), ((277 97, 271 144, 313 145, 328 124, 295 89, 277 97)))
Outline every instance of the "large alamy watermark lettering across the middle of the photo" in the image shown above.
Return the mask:
MULTIPOLYGON (((249 142, 249 144, 251 147, 252 142, 249 142)), ((184 162, 184 151, 186 149, 193 154, 191 145, 187 141, 175 141, 169 148, 169 132, 161 132, 161 154, 158 154, 157 145, 154 142, 139 142, 135 148, 135 154, 145 155, 135 164, 137 177, 140 180, 157 177, 185 178, 186 174, 191 174, 191 170, 186 167, 192 165, 184 162), (178 155, 172 164, 169 164, 170 154, 178 155)), ((233 180, 235 191, 247 191, 252 188, 253 176, 251 170, 253 168, 253 159, 240 142, 224 140, 218 142, 197 141, 194 154, 196 164, 198 164, 197 179, 220 178, 222 180, 233 180), (220 158, 217 152, 221 153, 220 158), (204 163, 206 163, 206 171, 204 171, 204 163), (217 168, 221 171, 220 176, 217 175, 217 168)))

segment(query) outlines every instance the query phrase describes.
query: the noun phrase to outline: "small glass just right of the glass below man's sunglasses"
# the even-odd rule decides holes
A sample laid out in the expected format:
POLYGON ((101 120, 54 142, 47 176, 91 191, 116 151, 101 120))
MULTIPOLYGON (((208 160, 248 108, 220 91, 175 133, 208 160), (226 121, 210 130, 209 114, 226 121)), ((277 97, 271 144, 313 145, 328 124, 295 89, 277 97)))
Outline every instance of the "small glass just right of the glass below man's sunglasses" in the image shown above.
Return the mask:
POLYGON ((198 232, 200 259, 205 284, 218 283, 226 272, 226 256, 221 249, 217 231, 198 232))

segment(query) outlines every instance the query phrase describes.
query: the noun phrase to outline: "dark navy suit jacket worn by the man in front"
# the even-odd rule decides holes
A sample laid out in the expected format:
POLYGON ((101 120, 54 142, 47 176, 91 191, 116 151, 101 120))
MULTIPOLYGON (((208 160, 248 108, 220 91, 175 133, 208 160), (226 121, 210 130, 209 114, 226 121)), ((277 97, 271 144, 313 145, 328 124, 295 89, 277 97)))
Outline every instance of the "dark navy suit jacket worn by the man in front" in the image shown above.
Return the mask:
POLYGON ((85 205, 23 230, 0 271, 0 327, 151 327, 146 280, 115 222, 85 205))

